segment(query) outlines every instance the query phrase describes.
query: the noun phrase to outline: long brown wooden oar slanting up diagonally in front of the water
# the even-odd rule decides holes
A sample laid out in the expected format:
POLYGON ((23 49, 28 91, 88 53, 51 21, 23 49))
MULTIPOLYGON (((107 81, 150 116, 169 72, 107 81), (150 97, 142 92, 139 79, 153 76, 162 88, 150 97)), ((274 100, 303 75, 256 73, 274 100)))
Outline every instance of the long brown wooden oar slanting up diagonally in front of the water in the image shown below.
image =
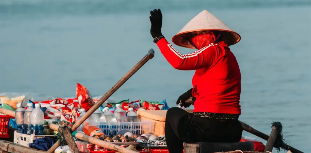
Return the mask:
MULTIPOLYGON (((148 54, 142 58, 128 73, 126 73, 108 92, 101 97, 97 103, 95 103, 78 121, 75 123, 71 131, 75 131, 87 118, 91 116, 115 91, 117 91, 135 72, 137 72, 145 63, 154 57, 154 50, 149 49, 148 54)), ((47 152, 53 153, 59 146, 56 142, 47 152)))

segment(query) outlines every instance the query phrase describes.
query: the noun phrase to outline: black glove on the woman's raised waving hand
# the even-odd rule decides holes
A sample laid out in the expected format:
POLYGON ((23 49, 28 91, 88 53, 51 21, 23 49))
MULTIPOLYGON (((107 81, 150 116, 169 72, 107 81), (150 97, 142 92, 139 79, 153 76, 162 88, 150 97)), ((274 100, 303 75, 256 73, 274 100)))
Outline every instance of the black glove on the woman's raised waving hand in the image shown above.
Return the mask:
POLYGON ((150 11, 150 22, 151 22, 151 28, 150 28, 150 34, 153 38, 159 37, 162 35, 161 28, 162 28, 162 13, 161 10, 153 10, 150 11))

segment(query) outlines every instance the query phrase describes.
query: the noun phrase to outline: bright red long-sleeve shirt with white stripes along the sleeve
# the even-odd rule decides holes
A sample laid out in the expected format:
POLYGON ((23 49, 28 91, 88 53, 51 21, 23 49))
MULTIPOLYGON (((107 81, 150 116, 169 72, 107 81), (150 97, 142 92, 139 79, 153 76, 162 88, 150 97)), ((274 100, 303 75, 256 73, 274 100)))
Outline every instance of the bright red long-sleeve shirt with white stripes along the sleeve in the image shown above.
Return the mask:
POLYGON ((157 45, 166 60, 178 70, 196 70, 192 78, 193 112, 241 114, 241 72, 224 41, 190 54, 178 53, 165 38, 157 45))

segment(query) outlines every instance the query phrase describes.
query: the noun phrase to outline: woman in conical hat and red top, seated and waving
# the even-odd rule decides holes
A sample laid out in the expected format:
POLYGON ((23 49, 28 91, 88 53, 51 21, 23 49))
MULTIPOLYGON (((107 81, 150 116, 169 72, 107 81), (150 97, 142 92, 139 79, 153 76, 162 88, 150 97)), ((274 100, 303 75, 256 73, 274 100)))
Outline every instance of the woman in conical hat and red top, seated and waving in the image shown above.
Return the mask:
POLYGON ((240 35, 206 10, 187 23, 172 42, 198 49, 190 54, 178 53, 161 33, 160 9, 150 12, 150 33, 166 60, 178 70, 196 70, 193 88, 177 100, 195 98, 193 114, 173 107, 167 111, 165 137, 169 152, 182 152, 183 142, 239 142, 242 126, 241 73, 230 45, 239 42, 240 35))

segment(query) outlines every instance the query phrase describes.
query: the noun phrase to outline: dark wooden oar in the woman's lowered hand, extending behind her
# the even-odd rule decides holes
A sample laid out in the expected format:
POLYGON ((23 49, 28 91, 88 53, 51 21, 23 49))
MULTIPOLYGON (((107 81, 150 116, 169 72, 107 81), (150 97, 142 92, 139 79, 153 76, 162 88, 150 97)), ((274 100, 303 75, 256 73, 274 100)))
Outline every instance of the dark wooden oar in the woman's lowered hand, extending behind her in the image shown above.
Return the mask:
MULTIPOLYGON (((186 100, 186 103, 187 104, 193 104, 194 103, 194 97, 190 97, 188 100, 186 100)), ((239 122, 241 122, 241 121, 239 121, 239 122)), ((255 135, 257 137, 260 137, 260 138, 268 141, 269 136, 267 134, 264 134, 264 133, 262 133, 262 132, 260 132, 260 131, 258 131, 256 129, 252 128, 251 126, 247 125, 246 123, 241 122, 241 124, 242 124, 242 127, 243 127, 244 131, 252 133, 253 135, 255 135)), ((295 149, 294 147, 291 147, 291 146, 289 146, 289 145, 287 145, 285 143, 283 143, 282 148, 285 149, 285 150, 290 150, 292 152, 302 152, 302 151, 299 151, 298 149, 295 149)))

